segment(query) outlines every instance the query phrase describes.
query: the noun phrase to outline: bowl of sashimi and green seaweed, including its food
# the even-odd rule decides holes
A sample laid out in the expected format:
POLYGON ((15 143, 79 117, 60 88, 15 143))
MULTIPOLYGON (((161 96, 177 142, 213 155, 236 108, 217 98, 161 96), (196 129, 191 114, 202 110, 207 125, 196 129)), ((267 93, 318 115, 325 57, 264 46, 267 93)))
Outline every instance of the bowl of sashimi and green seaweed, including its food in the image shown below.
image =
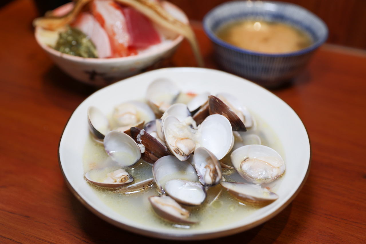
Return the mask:
MULTIPOLYGON (((34 20, 36 40, 61 70, 98 87, 172 56, 183 35, 123 2, 81 0, 65 4, 34 20)), ((152 3, 175 22, 189 26, 184 12, 167 1, 134 2, 152 3)), ((142 8, 152 7, 146 6, 142 8)))

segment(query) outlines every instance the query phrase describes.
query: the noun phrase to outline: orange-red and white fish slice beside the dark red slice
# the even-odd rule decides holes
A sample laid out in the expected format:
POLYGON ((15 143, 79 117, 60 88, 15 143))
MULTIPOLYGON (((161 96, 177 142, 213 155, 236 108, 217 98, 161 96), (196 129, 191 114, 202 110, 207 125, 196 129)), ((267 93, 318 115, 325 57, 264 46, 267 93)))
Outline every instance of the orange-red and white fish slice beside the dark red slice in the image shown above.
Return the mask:
POLYGON ((94 0, 91 3, 91 11, 108 34, 112 56, 126 57, 130 55, 128 50, 130 35, 120 7, 112 0, 94 0))

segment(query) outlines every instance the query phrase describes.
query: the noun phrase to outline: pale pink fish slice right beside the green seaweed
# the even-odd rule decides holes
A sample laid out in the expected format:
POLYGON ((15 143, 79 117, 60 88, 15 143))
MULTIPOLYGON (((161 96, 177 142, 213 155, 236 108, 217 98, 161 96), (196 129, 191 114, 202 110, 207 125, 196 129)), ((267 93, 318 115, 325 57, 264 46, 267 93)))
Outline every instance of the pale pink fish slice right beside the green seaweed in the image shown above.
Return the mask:
POLYGON ((72 26, 78 28, 90 37, 91 41, 93 41, 96 46, 98 57, 111 57, 111 43, 109 42, 107 32, 105 32, 93 15, 82 12, 78 15, 75 22, 72 23, 72 26))

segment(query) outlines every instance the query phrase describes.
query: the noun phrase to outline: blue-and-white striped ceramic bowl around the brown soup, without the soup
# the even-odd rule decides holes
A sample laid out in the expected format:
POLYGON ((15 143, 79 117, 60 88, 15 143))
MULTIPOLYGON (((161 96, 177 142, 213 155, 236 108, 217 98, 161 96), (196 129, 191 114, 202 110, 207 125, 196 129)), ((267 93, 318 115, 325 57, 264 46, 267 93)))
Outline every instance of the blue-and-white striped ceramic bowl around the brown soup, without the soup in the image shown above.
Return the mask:
POLYGON ((301 72, 314 51, 328 37, 328 28, 316 15, 295 4, 276 1, 231 1, 213 8, 203 18, 203 28, 214 44, 216 60, 226 71, 273 88, 301 72), (261 53, 228 44, 216 36, 223 25, 237 20, 282 22, 310 34, 313 44, 288 53, 261 53))

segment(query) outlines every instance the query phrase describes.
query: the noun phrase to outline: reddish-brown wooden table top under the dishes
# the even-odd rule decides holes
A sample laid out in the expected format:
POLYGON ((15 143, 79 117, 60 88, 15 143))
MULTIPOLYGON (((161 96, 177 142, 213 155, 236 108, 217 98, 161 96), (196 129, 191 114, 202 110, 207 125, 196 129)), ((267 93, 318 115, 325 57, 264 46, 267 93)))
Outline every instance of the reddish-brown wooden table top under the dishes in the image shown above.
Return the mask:
MULTIPOLYGON (((60 135, 95 89, 55 67, 34 40, 35 17, 30 0, 0 9, 0 243, 170 243, 108 224, 67 188, 57 161, 60 135)), ((207 66, 216 68, 210 42, 194 26, 207 66)), ((171 65, 195 65, 187 42, 171 65)), ((265 224, 200 243, 365 243, 365 51, 324 45, 292 86, 273 93, 309 132, 306 184, 265 224)))

